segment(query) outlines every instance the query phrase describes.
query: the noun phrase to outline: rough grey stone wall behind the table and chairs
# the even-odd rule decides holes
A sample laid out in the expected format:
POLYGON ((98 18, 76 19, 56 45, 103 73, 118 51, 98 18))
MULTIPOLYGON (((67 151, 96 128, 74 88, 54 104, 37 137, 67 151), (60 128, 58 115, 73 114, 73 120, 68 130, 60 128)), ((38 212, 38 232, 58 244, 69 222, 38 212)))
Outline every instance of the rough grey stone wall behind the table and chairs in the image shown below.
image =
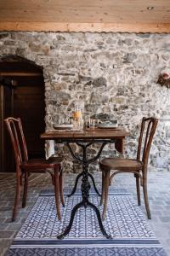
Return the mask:
MULTIPOLYGON (((156 84, 161 69, 170 66, 169 34, 0 32, 0 57, 5 55, 43 67, 47 128, 59 115, 71 115, 79 100, 85 115, 105 114, 131 131, 126 154, 133 157, 142 117, 159 118, 150 166, 169 170, 168 90, 156 84)), ((115 153, 109 146, 103 154, 115 153)), ((72 161, 66 162, 70 171, 72 161)))

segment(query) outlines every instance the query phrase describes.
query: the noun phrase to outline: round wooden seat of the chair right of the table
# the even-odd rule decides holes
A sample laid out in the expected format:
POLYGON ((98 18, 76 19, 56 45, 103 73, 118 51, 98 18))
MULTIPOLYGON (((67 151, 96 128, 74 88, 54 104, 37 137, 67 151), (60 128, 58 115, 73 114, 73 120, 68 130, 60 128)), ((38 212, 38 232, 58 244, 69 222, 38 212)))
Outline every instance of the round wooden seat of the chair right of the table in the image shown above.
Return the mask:
POLYGON ((100 161, 100 168, 105 171, 139 171, 142 169, 142 166, 143 164, 141 161, 133 159, 105 158, 100 161))

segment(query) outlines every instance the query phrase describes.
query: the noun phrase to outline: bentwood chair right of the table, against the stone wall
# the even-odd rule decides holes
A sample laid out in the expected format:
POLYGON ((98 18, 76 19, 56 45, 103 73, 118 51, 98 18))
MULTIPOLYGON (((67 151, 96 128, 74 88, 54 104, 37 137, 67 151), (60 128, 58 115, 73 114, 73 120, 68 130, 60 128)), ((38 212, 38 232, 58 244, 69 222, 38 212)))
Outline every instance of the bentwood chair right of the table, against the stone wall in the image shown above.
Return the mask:
POLYGON ((152 117, 142 119, 137 158, 135 160, 121 158, 105 158, 100 161, 99 166, 102 171, 102 195, 100 205, 104 203, 104 210, 102 215, 103 219, 105 219, 105 213, 107 209, 109 185, 111 184, 112 178, 117 173, 121 172, 130 172, 134 174, 134 177, 136 178, 136 189, 139 206, 141 204, 139 187, 140 181, 140 185, 143 187, 144 204, 147 216, 148 218, 151 218, 147 192, 147 166, 150 154, 150 147, 156 131, 157 122, 158 119, 152 117), (112 174, 111 171, 113 171, 112 174))

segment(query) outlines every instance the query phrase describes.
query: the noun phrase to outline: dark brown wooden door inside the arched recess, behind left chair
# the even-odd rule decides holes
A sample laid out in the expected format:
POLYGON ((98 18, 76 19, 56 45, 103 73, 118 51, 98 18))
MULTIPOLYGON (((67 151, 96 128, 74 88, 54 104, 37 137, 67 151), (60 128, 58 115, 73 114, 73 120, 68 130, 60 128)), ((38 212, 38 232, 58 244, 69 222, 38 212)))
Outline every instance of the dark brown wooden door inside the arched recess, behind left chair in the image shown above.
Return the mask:
POLYGON ((42 76, 20 77, 14 88, 14 117, 20 117, 30 158, 44 157, 44 81, 42 76))

